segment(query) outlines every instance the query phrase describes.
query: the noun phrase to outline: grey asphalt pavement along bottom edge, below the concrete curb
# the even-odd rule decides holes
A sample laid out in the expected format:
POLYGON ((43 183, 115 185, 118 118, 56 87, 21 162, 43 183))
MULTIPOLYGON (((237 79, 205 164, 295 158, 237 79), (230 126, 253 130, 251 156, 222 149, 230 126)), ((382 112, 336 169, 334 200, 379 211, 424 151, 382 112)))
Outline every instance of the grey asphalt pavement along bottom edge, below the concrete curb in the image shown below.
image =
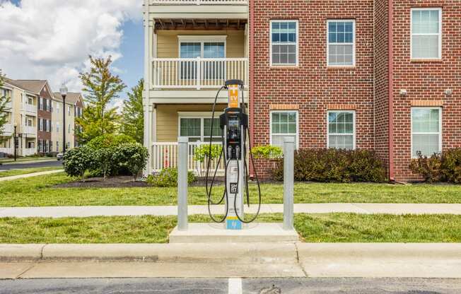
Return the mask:
POLYGON ((461 280, 423 278, 250 278, 230 288, 225 278, 37 279, 0 281, 1 294, 455 294, 461 280))

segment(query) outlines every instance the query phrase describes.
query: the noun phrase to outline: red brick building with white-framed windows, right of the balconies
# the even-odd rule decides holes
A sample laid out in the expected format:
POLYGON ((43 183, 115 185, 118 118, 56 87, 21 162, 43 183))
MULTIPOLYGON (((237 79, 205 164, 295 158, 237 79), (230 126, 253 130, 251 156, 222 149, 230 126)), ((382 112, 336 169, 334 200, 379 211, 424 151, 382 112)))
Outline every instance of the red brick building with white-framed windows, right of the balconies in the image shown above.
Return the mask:
POLYGON ((416 180, 416 151, 461 147, 459 4, 251 0, 253 144, 375 150, 416 180))

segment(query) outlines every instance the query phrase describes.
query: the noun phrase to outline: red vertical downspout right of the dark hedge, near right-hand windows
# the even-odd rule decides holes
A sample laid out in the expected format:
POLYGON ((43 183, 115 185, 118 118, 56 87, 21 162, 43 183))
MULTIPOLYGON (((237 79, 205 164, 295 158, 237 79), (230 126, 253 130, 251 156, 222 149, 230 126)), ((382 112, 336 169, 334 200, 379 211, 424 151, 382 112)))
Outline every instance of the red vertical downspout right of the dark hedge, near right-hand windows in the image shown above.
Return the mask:
POLYGON ((394 0, 388 0, 388 79, 389 79, 389 180, 395 182, 394 175, 394 0))

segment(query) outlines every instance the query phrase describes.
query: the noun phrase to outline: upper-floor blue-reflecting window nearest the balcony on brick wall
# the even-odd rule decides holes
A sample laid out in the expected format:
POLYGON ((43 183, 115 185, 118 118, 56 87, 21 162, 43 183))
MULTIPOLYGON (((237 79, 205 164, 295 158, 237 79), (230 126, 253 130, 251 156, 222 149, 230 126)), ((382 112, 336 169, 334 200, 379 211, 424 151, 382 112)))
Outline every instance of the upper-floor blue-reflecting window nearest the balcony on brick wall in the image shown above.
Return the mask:
POLYGON ((298 20, 271 21, 271 65, 298 65, 298 20))

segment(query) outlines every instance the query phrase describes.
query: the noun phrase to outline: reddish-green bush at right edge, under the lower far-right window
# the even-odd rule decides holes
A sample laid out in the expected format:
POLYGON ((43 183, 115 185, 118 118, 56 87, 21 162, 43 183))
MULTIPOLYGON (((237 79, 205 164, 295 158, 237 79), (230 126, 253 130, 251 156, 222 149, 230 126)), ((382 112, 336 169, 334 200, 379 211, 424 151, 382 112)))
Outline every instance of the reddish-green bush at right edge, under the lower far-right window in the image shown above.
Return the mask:
POLYGON ((426 182, 453 182, 461 184, 461 148, 443 151, 442 154, 424 156, 412 160, 410 170, 426 182))

